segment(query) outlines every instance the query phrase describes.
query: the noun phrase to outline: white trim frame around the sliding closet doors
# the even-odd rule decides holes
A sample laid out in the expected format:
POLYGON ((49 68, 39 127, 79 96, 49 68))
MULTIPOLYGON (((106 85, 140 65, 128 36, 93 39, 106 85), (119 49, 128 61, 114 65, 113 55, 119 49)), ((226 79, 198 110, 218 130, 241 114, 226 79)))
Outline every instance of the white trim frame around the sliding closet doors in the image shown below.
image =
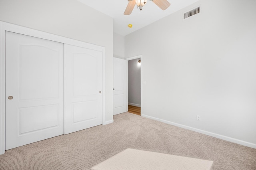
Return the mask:
POLYGON ((0 154, 5 152, 5 32, 14 32, 102 52, 102 125, 105 121, 105 47, 0 21, 0 154))

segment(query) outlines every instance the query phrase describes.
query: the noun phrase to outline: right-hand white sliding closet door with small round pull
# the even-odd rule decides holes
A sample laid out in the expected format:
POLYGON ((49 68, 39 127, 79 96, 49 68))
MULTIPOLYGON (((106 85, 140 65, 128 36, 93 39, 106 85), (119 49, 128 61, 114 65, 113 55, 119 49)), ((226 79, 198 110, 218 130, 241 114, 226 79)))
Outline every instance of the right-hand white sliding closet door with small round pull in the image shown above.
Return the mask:
POLYGON ((65 44, 64 134, 102 124, 102 52, 65 44))

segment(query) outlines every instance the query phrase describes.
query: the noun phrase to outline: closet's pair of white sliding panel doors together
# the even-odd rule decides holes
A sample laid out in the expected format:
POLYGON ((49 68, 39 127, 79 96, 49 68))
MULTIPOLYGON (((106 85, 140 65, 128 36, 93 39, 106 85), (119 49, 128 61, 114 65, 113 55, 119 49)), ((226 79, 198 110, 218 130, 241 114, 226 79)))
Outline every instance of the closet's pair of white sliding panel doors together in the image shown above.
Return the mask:
POLYGON ((103 53, 82 46, 5 31, 5 150, 102 124, 103 53))

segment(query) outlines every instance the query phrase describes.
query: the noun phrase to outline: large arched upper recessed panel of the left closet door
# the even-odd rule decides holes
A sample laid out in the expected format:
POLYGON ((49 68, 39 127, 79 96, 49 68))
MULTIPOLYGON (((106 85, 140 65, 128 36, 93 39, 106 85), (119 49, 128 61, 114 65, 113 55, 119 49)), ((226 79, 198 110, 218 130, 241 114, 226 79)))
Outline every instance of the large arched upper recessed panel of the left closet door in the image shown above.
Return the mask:
POLYGON ((58 99, 59 51, 20 45, 20 100, 58 99))

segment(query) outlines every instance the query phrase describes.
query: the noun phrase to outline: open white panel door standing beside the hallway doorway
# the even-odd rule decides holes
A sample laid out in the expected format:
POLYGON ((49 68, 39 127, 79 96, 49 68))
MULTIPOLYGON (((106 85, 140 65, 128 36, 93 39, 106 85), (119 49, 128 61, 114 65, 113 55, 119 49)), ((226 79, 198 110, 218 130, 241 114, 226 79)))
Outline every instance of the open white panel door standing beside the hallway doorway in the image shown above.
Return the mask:
POLYGON ((128 61, 125 59, 115 58, 114 61, 114 115, 128 111, 127 102, 127 65, 128 61))

